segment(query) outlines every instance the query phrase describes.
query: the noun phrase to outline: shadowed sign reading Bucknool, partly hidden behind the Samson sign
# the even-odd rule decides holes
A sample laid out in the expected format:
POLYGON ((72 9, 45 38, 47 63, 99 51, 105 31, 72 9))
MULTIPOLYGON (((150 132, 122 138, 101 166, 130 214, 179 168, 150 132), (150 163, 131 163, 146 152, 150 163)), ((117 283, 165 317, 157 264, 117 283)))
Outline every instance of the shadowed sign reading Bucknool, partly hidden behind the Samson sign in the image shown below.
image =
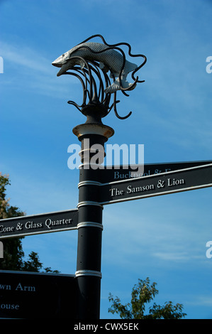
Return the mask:
POLYGON ((145 163, 144 165, 130 166, 106 166, 101 169, 101 183, 113 181, 128 180, 129 178, 139 178, 150 176, 179 169, 203 166, 212 163, 212 161, 184 161, 184 162, 166 162, 166 163, 145 163))

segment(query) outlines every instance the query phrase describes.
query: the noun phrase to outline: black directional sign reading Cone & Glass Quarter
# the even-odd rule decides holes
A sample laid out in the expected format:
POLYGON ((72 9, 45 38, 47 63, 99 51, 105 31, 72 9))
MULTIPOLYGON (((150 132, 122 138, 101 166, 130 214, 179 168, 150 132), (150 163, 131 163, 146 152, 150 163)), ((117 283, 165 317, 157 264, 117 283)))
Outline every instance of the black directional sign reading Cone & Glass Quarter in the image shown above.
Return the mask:
POLYGON ((77 229, 78 209, 0 220, 0 239, 77 229))

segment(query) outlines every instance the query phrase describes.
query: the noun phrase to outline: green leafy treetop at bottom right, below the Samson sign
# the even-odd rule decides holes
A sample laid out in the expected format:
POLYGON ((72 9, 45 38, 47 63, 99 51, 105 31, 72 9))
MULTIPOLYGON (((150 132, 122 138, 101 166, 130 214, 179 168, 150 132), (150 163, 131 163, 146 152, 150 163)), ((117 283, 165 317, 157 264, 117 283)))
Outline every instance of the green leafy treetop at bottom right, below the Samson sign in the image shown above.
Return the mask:
POLYGON ((145 314, 146 304, 150 303, 157 295, 157 284, 154 282, 150 286, 150 279, 142 280, 138 279, 138 284, 133 286, 131 293, 131 303, 121 304, 121 300, 116 296, 113 298, 109 293, 108 300, 112 302, 111 308, 108 308, 108 312, 118 313, 121 319, 181 319, 186 316, 186 313, 182 313, 182 304, 172 304, 169 301, 164 306, 153 303, 149 308, 149 313, 145 314))

